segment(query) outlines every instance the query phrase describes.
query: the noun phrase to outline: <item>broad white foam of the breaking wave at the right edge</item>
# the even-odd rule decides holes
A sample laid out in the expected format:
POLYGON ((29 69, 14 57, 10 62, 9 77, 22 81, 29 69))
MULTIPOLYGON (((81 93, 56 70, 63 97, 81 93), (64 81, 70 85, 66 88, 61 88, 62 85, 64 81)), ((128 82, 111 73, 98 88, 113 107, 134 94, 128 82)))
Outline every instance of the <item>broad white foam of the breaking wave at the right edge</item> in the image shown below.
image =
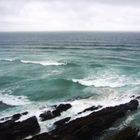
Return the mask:
POLYGON ((123 87, 126 85, 140 85, 140 80, 125 75, 99 75, 92 78, 72 79, 73 82, 84 86, 95 87, 123 87))

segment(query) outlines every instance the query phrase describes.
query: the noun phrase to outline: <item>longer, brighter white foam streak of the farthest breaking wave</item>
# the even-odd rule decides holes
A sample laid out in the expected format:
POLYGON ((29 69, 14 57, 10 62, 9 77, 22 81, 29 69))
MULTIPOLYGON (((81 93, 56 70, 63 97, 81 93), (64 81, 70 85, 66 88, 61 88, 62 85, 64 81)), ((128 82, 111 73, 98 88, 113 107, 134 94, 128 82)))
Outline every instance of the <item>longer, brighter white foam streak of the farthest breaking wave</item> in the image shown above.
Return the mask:
POLYGON ((25 64, 40 64, 43 66, 59 66, 59 65, 66 65, 65 63, 57 62, 57 61, 27 61, 27 60, 20 60, 22 63, 25 64))

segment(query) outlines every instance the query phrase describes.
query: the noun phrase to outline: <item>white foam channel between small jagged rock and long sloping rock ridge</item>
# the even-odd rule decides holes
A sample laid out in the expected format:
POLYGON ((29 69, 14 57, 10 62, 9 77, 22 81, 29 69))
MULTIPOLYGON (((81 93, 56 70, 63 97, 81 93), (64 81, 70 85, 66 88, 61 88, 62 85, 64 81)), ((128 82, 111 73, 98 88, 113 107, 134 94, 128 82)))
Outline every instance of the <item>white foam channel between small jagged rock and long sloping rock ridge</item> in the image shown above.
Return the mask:
MULTIPOLYGON (((115 93, 114 93, 115 94, 115 93)), ((88 99, 80 99, 80 100, 75 100, 72 102, 65 102, 65 103, 70 103, 72 105, 72 107, 70 109, 68 109, 67 111, 64 111, 61 113, 61 116, 58 116, 54 119, 48 120, 46 122, 40 122, 42 131, 46 131, 46 130, 51 130, 54 126, 54 122, 61 120, 63 118, 66 117, 71 117, 71 120, 74 120, 76 118, 79 117, 83 117, 86 115, 89 115, 91 112, 93 111, 87 111, 84 113, 81 113, 78 115, 79 112, 82 112, 84 109, 89 108, 91 106, 98 106, 101 105, 103 108, 104 107, 108 107, 108 106, 115 106, 115 105, 119 105, 122 103, 126 103, 129 102, 131 99, 129 96, 120 96, 119 98, 116 98, 117 95, 113 95, 111 96, 108 95, 108 98, 106 97, 106 99, 94 99, 94 97, 92 98, 88 98, 88 99)), ((100 110, 102 108, 99 108, 98 110, 100 110)), ((95 110, 97 111, 97 110, 95 110)))

